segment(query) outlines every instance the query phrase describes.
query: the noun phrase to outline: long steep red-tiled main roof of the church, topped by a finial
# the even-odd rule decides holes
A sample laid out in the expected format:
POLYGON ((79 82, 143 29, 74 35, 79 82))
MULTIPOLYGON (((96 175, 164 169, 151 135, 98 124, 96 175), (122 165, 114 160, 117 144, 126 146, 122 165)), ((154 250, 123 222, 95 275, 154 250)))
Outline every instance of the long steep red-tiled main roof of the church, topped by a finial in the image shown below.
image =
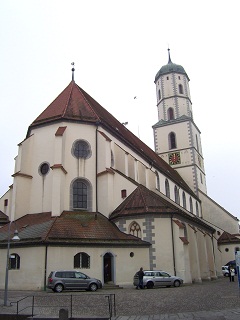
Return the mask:
POLYGON ((70 82, 62 93, 33 121, 28 129, 27 137, 31 135, 33 128, 56 121, 74 121, 101 125, 122 143, 143 157, 149 163, 149 166, 156 167, 160 172, 163 172, 176 184, 196 197, 195 193, 176 170, 161 159, 156 152, 129 131, 74 81, 70 82))

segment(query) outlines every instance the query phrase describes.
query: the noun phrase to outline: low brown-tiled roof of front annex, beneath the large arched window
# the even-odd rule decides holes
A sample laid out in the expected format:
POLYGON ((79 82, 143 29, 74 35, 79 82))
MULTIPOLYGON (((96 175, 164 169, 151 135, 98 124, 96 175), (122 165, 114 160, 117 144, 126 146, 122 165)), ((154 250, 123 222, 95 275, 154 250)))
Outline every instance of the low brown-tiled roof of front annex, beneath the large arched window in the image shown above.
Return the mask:
MULTIPOLYGON (((6 245, 8 227, 0 229, 0 245, 6 245)), ((64 211, 59 217, 51 213, 27 214, 11 224, 11 237, 17 228, 20 241, 15 245, 32 243, 104 244, 149 246, 141 239, 121 232, 100 213, 64 211)))

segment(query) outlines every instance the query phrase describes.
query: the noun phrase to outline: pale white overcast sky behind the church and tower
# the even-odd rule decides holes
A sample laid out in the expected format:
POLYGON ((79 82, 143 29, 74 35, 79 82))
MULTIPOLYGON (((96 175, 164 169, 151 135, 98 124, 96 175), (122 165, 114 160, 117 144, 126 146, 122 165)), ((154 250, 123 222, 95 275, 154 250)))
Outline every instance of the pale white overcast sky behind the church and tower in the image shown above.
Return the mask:
POLYGON ((1 0, 0 196, 28 126, 75 81, 153 148, 154 78, 190 78, 208 196, 240 219, 238 0, 1 0), (137 96, 137 99, 134 99, 137 96))

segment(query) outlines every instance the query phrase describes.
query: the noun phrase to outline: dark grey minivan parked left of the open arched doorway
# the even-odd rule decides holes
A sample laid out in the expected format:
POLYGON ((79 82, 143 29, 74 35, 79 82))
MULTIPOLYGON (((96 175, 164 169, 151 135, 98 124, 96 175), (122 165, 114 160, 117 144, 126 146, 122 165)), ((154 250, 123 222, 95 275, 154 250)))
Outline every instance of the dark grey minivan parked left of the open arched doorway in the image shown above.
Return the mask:
POLYGON ((102 282, 79 271, 62 270, 50 272, 47 287, 55 292, 63 290, 96 291, 102 288, 102 282))

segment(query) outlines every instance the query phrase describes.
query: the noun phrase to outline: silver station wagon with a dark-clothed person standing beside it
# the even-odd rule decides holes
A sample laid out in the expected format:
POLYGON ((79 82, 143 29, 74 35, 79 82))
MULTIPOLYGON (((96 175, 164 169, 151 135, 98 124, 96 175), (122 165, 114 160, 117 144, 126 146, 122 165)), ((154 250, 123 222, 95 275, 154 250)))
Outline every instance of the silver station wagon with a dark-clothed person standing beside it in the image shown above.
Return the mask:
MULTIPOLYGON (((171 276, 162 270, 144 270, 143 286, 152 289, 154 287, 179 287, 183 284, 183 279, 171 276)), ((134 275, 133 285, 138 285, 138 273, 134 275)))

